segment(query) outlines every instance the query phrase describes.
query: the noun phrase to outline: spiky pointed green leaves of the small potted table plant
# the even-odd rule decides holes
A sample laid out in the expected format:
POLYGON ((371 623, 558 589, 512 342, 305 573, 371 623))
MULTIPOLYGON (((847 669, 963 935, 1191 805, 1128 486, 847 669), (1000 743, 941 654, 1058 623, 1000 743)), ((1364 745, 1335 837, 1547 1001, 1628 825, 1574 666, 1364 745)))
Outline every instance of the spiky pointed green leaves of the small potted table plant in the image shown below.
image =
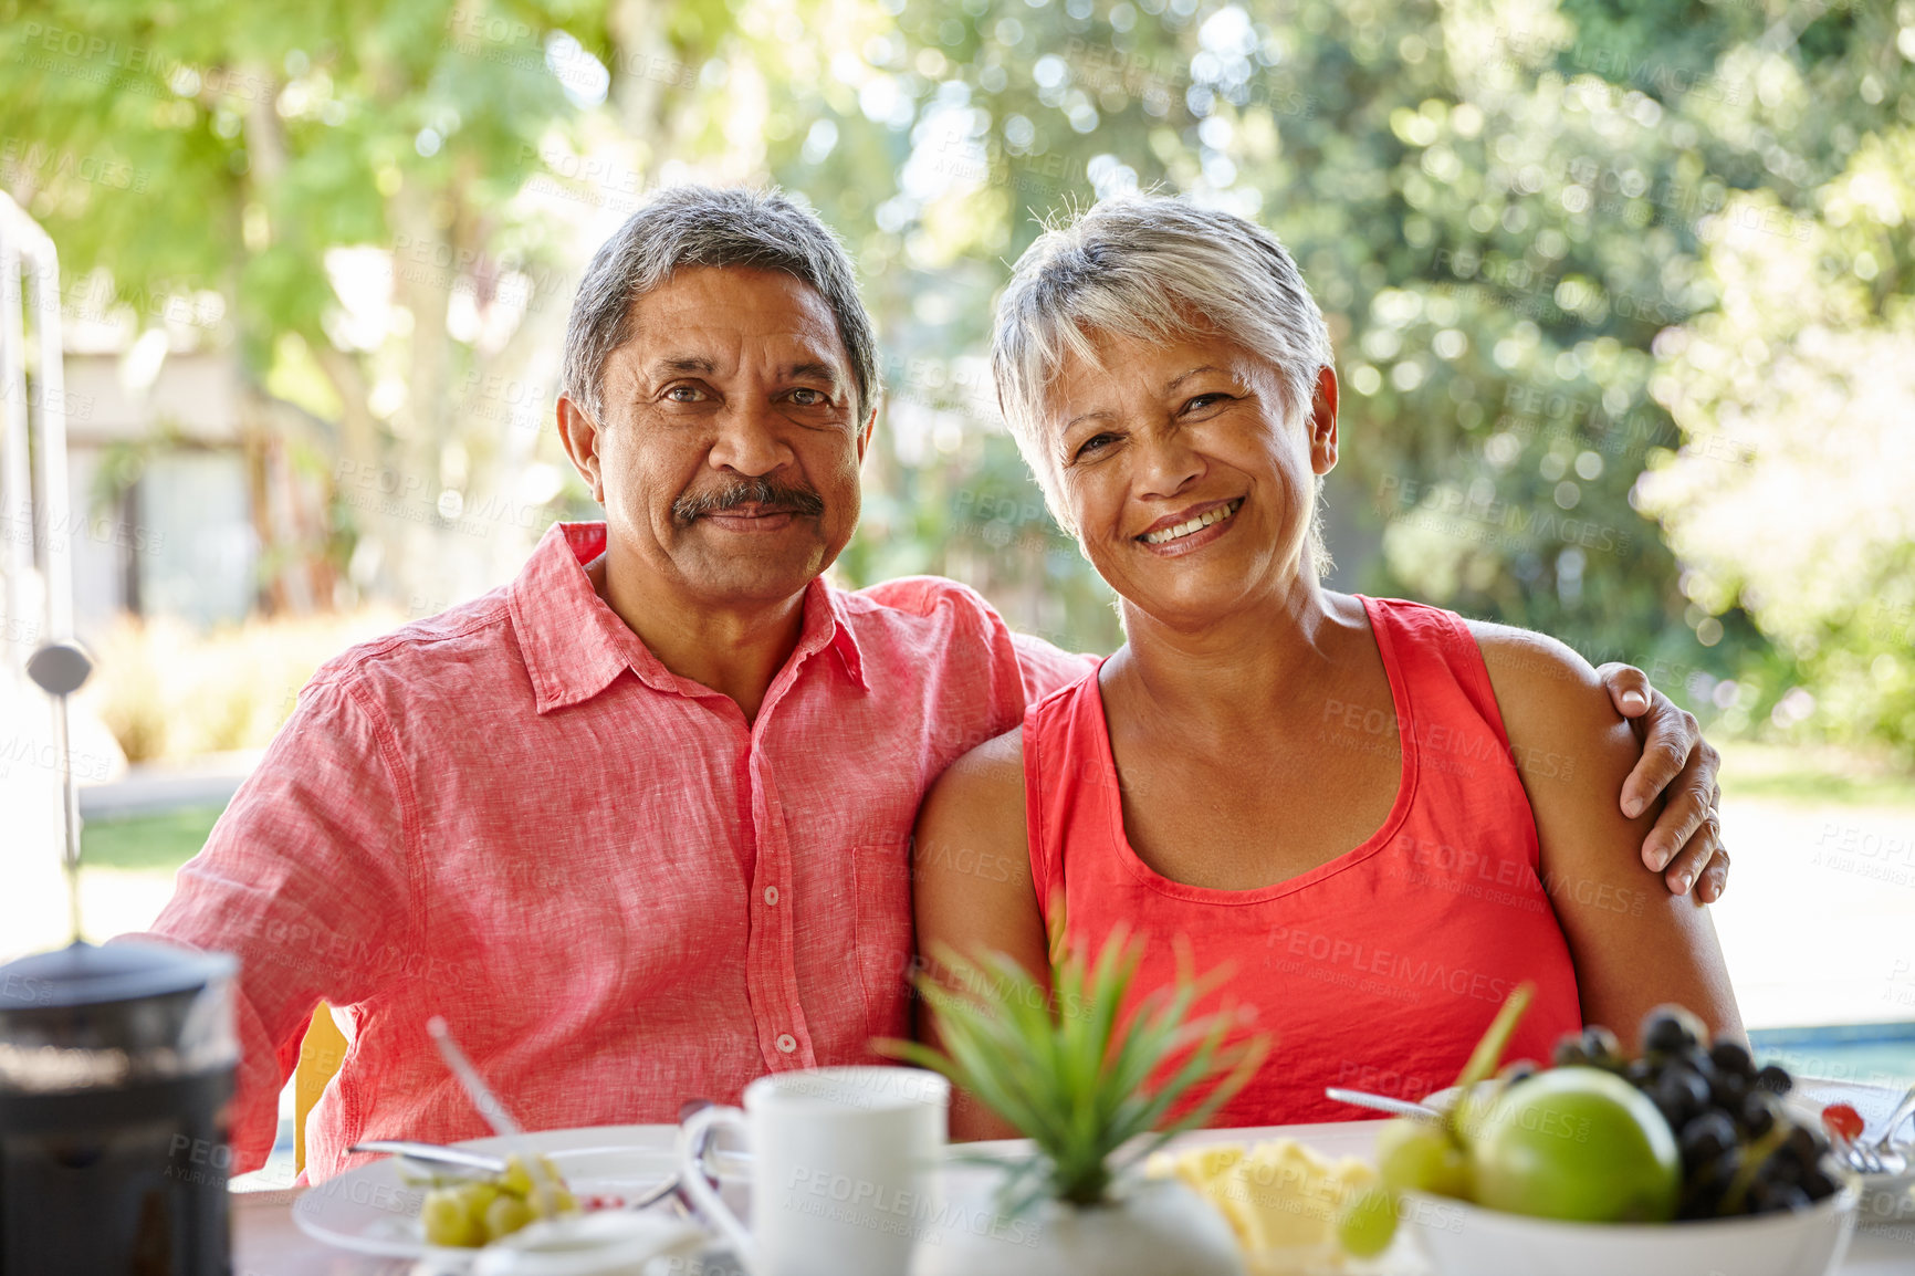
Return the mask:
POLYGON ((1038 1197, 1097 1205, 1126 1171, 1172 1136, 1201 1128, 1256 1073, 1268 1038, 1231 1040, 1237 1015, 1191 1019, 1214 979, 1178 979, 1126 1006, 1143 941, 1111 933, 1097 958, 1051 935, 1048 987, 998 952, 973 964, 933 954, 956 989, 925 973, 917 989, 938 1042, 881 1042, 952 1079, 1038 1146, 1009 1163, 1011 1211, 1038 1197), (1199 1088, 1208 1092, 1197 1100, 1199 1088), (1191 1102, 1182 1113, 1172 1111, 1191 1102))

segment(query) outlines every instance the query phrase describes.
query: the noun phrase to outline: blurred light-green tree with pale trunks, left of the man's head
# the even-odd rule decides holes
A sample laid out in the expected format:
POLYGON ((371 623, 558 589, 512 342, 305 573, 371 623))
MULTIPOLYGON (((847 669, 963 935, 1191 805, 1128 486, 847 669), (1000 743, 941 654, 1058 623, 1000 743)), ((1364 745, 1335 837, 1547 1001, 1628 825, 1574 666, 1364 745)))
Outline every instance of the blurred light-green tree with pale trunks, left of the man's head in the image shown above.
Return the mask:
POLYGON ((266 605, 331 605, 335 577, 304 571, 329 563, 347 594, 437 609, 515 561, 525 536, 494 533, 536 535, 521 513, 552 494, 527 500, 515 483, 550 377, 529 395, 542 402, 517 412, 506 387, 563 331, 565 272, 578 264, 569 222, 613 186, 636 192, 663 159, 661 119, 695 88, 697 50, 730 11, 647 0, 611 11, 569 0, 8 8, 8 186, 56 236, 69 278, 105 272, 103 305, 75 289, 80 318, 123 322, 128 339, 151 328, 176 345, 237 345, 262 561, 283 565, 262 581, 266 605), (636 142, 586 169, 569 130, 609 90, 636 142), (521 199, 552 167, 586 180, 521 199), (209 312, 226 322, 203 322, 209 312), (291 433, 301 425, 312 431, 291 433), (274 521, 287 502, 268 489, 291 469, 322 506, 304 527, 274 521))

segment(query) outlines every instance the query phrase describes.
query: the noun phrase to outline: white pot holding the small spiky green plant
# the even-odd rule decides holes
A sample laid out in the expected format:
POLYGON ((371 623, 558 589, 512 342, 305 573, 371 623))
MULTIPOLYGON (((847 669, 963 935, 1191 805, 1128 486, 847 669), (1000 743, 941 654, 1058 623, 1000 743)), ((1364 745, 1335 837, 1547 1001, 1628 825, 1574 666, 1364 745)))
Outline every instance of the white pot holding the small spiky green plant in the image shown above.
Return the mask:
POLYGON ((1111 1205, 998 1211, 998 1174, 948 1173, 946 1207, 919 1232, 912 1276, 1243 1276, 1224 1217, 1182 1182, 1128 1184, 1111 1205))

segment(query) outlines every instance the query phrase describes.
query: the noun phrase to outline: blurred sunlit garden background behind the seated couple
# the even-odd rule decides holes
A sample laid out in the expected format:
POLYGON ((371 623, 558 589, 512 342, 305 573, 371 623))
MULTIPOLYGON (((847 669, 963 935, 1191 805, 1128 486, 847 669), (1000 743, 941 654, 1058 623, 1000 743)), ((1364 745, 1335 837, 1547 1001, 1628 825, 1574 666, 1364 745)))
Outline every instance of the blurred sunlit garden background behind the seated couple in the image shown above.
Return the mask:
MULTIPOLYGON (((1111 649, 982 354, 1046 216, 1162 190, 1275 230, 1329 318, 1333 584, 1649 671, 1729 755, 1752 1021, 1915 1019, 1915 0, 0 13, 88 707, 134 791, 90 799, 98 929, 157 906, 320 659, 592 515, 565 314, 661 184, 777 184, 858 261, 887 395, 837 577, 946 573, 1111 649)), ((1915 1073, 1882 1040, 1854 1067, 1915 1073)))

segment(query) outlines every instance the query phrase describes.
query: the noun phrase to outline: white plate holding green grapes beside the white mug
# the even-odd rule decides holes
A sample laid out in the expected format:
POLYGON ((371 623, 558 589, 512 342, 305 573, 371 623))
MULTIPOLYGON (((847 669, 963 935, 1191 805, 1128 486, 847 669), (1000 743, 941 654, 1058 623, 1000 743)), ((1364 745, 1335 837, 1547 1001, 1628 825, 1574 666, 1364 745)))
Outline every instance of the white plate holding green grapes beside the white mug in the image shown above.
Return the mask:
MULTIPOLYGON (((574 1196, 638 1197, 672 1176, 678 1167, 676 1125, 601 1125, 582 1130, 540 1130, 525 1142, 552 1157, 565 1186, 574 1196)), ((460 1148, 509 1155, 504 1138, 473 1138, 460 1148)), ((726 1196, 745 1190, 745 1165, 728 1151, 718 1153, 718 1174, 726 1196)), ((433 1259, 444 1270, 460 1270, 477 1249, 440 1249, 425 1243, 419 1203, 425 1188, 406 1186, 393 1157, 333 1174, 293 1201, 293 1222, 312 1240, 387 1259, 433 1259)), ((661 1201, 663 1207, 663 1201, 661 1201)))

